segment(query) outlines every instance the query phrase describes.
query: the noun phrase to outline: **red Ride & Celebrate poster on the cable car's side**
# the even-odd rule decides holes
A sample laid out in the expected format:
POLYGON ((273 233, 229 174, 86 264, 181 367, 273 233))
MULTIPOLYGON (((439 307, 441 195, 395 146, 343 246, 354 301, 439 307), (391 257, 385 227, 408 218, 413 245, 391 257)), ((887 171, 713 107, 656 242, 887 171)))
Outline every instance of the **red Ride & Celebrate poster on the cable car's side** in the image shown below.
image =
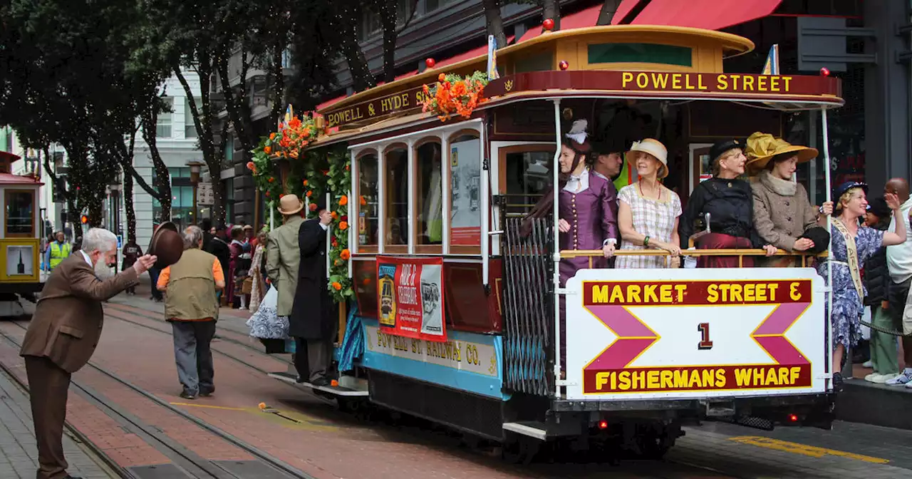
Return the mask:
POLYGON ((446 341, 443 258, 377 256, 377 318, 384 333, 446 341))

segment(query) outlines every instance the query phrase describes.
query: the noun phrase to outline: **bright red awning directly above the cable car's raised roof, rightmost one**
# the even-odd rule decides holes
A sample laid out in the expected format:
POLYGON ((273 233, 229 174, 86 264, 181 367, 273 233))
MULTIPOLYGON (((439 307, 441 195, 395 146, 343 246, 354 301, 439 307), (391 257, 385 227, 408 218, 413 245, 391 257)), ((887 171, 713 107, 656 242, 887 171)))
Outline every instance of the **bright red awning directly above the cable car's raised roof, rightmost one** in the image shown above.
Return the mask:
POLYGON ((693 26, 719 30, 772 14, 782 0, 624 0, 611 24, 617 25, 637 5, 646 7, 631 25, 693 26))

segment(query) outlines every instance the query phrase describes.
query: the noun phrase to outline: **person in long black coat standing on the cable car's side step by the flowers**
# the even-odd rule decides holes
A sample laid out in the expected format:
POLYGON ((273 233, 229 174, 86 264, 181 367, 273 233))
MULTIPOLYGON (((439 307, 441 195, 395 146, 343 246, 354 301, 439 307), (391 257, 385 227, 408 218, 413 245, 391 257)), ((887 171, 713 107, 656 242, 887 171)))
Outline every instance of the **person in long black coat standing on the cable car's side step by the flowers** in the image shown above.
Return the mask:
POLYGON ((333 218, 326 208, 316 208, 317 217, 301 224, 295 305, 288 318, 288 335, 295 338, 295 369, 299 382, 327 386, 333 380, 333 338, 338 322, 331 311, 326 276, 326 231, 333 218))

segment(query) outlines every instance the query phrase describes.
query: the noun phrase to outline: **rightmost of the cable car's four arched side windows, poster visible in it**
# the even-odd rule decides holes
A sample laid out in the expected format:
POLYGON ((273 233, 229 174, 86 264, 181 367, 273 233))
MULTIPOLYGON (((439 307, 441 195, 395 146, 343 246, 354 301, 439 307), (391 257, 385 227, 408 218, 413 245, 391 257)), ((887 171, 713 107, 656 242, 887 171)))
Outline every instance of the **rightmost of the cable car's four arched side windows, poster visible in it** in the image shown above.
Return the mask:
MULTIPOLYGON (((482 245, 482 151, 477 134, 458 134, 450 142, 450 247, 482 245)), ((477 248, 472 248, 477 250, 477 248)))

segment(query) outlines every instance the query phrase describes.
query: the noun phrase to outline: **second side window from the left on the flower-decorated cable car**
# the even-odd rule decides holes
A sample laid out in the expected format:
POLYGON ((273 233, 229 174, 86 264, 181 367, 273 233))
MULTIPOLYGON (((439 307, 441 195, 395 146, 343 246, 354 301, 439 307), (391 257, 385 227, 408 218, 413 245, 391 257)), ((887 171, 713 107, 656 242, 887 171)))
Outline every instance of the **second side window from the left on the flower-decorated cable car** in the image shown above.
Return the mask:
MULTIPOLYGON (((386 232, 384 245, 408 245, 409 151, 405 147, 386 152, 386 232)), ((393 248, 401 249, 401 248, 393 248)))

